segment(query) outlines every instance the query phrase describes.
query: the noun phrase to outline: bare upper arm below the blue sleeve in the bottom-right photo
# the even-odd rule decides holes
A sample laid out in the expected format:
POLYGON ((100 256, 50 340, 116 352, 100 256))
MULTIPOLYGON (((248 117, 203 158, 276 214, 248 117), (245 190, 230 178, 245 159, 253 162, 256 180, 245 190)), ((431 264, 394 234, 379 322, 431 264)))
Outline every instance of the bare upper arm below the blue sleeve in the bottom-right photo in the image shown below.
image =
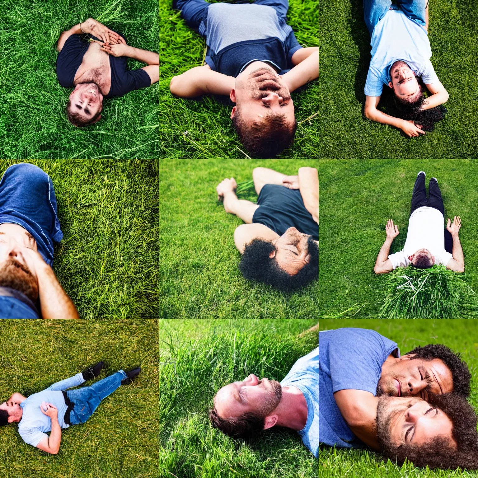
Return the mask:
POLYGON ((334 399, 352 433, 373 450, 380 450, 377 441, 378 399, 369 391, 339 390, 334 399))

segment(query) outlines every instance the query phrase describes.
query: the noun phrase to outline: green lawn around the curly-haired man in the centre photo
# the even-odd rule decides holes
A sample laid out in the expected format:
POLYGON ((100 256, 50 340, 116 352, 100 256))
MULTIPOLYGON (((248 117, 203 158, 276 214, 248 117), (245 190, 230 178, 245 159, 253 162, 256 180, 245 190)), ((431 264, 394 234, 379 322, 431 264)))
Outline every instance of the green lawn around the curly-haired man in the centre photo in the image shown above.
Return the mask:
POLYGON ((242 221, 224 211, 216 186, 225 177, 250 180, 256 166, 297 174, 299 167, 317 165, 314 160, 161 160, 160 317, 315 316, 317 282, 283 294, 242 277, 233 240, 242 221))

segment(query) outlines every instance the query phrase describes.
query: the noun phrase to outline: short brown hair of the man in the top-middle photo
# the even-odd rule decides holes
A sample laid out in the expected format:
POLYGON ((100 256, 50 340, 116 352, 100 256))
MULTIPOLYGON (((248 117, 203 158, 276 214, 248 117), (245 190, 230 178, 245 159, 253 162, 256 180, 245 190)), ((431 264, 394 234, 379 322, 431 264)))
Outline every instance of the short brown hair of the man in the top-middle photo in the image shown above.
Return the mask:
POLYGON ((239 106, 232 119, 239 139, 250 154, 260 158, 273 158, 288 148, 297 130, 297 120, 291 125, 284 114, 268 114, 263 121, 247 124, 241 117, 239 106))

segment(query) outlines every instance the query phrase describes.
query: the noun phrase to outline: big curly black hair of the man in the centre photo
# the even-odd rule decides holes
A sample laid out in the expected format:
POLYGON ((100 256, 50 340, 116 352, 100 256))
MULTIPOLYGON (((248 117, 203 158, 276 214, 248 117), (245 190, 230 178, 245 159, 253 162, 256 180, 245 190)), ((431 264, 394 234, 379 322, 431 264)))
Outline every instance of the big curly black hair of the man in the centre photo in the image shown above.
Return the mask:
POLYGON ((269 257, 276 248, 272 242, 263 239, 253 239, 246 244, 239 262, 239 270, 246 279, 264 282, 282 292, 300 289, 316 279, 319 273, 319 248, 312 237, 308 239, 307 244, 311 259, 295 275, 285 272, 275 258, 269 257))

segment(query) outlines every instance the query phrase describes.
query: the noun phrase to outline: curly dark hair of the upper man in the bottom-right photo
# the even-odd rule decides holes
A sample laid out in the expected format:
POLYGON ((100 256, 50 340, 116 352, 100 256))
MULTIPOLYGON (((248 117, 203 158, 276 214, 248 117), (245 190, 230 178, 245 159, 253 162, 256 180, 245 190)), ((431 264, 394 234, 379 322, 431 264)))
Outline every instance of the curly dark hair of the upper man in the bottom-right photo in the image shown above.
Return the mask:
POLYGON ((459 353, 443 344, 429 344, 424 347, 416 347, 405 355, 415 354, 411 359, 433 360, 440 359, 450 370, 453 376, 453 394, 462 398, 468 398, 470 394, 471 373, 467 362, 461 359, 459 353))

